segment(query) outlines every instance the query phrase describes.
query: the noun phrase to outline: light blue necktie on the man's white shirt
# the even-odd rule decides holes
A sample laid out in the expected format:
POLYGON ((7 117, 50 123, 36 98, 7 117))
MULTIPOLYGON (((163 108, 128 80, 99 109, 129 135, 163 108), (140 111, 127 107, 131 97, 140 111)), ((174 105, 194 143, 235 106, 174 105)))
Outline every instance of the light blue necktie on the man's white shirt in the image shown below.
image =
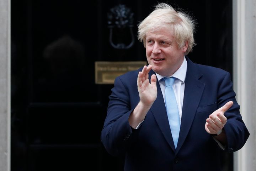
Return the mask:
POLYGON ((165 78, 165 106, 171 128, 172 138, 174 140, 175 149, 178 143, 180 133, 180 116, 178 112, 177 101, 173 89, 175 78, 165 78))

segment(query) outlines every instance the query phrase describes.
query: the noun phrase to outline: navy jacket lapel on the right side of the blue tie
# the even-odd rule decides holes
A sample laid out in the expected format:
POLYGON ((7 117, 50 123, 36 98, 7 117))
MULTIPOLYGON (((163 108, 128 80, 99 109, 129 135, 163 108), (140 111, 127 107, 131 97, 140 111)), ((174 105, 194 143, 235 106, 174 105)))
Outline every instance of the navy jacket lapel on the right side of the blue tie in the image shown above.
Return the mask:
POLYGON ((175 152, 176 154, 180 150, 191 128, 205 86, 203 82, 199 81, 202 74, 197 72, 197 68, 194 66, 195 64, 192 63, 190 59, 186 59, 188 65, 185 80, 180 135, 175 152))

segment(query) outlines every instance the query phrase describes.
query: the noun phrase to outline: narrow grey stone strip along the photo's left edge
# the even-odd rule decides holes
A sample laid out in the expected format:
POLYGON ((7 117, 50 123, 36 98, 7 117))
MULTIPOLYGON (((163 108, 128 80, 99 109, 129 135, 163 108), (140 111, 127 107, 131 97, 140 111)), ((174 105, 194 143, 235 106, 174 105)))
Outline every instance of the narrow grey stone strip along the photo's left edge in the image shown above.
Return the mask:
POLYGON ((10 171, 10 0, 0 0, 0 170, 10 171))

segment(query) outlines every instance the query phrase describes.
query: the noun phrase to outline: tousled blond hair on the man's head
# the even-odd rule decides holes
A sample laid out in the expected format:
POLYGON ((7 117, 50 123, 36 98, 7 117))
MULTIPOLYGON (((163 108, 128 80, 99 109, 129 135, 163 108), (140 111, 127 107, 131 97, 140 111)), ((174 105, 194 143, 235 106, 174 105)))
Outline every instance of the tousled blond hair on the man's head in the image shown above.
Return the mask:
POLYGON ((167 26, 173 29, 175 40, 180 48, 188 42, 188 48, 185 52, 187 55, 195 45, 194 24, 193 19, 184 12, 176 11, 172 6, 161 3, 156 5, 154 11, 138 25, 138 39, 143 42, 145 47, 145 39, 149 32, 167 26))

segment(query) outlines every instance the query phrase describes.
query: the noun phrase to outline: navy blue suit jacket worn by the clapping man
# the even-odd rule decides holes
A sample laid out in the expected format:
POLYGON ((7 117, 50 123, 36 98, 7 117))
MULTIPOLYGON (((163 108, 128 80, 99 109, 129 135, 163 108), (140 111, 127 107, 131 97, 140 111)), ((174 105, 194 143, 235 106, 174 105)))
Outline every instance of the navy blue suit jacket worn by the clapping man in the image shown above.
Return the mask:
MULTIPOLYGON (((130 127, 128 118, 139 103, 137 71, 115 79, 101 141, 108 153, 125 153, 126 171, 218 171, 220 148, 204 125, 209 115, 233 101, 225 112, 226 151, 242 148, 249 137, 236 102, 230 74, 222 69, 195 64, 187 59, 187 73, 180 135, 174 147, 162 92, 158 95, 139 129, 130 127)), ((149 73, 149 80, 152 70, 149 73)))

